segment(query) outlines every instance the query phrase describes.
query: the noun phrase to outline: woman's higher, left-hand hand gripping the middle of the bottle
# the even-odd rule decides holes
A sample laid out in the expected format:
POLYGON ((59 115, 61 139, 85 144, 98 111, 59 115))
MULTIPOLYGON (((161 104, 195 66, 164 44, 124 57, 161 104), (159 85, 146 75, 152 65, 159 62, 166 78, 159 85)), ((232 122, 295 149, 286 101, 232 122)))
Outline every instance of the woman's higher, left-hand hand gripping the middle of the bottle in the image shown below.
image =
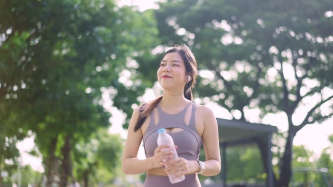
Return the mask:
POLYGON ((157 146, 154 155, 150 157, 151 168, 162 168, 164 161, 173 157, 173 151, 171 147, 167 145, 157 146))

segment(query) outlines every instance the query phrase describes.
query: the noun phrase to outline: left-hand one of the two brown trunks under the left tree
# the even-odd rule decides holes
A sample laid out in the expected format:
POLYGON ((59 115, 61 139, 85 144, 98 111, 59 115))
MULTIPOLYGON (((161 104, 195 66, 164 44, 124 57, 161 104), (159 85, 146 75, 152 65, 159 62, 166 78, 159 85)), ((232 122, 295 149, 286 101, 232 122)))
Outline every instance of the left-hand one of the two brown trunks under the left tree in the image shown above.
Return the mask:
POLYGON ((54 182, 54 177, 55 177, 55 170, 57 167, 55 167, 57 164, 57 159, 56 159, 56 144, 58 142, 58 135, 56 135, 54 138, 51 140, 51 147, 50 147, 50 152, 49 152, 49 158, 46 161, 46 187, 51 187, 52 183, 54 182))

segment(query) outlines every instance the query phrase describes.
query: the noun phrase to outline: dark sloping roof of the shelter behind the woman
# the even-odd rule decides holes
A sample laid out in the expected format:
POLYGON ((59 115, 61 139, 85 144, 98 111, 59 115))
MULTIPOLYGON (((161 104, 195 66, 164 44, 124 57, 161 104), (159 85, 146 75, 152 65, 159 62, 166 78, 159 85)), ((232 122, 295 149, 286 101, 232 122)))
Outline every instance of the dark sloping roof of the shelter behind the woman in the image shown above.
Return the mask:
POLYGON ((277 132, 277 127, 272 125, 221 118, 217 118, 217 122, 220 143, 246 142, 257 136, 267 136, 277 132))

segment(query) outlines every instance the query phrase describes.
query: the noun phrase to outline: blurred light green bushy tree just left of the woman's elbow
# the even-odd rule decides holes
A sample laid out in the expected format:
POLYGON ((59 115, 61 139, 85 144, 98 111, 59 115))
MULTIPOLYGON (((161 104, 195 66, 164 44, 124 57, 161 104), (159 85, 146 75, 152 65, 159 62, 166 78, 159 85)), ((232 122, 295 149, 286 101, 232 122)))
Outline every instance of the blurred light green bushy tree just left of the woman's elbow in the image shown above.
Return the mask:
POLYGON ((107 129, 99 129, 89 142, 75 145, 75 175, 83 187, 108 184, 115 179, 114 171, 120 167, 122 146, 120 136, 110 135, 107 129))

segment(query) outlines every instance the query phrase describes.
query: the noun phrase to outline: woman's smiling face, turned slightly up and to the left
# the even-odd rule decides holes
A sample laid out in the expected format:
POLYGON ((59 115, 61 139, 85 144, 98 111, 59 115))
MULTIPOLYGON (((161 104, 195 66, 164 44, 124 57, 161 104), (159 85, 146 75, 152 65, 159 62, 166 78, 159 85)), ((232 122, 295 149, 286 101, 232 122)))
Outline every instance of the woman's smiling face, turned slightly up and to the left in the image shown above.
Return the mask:
POLYGON ((178 52, 167 53, 157 70, 157 79, 164 89, 183 89, 186 84, 185 63, 178 52))

